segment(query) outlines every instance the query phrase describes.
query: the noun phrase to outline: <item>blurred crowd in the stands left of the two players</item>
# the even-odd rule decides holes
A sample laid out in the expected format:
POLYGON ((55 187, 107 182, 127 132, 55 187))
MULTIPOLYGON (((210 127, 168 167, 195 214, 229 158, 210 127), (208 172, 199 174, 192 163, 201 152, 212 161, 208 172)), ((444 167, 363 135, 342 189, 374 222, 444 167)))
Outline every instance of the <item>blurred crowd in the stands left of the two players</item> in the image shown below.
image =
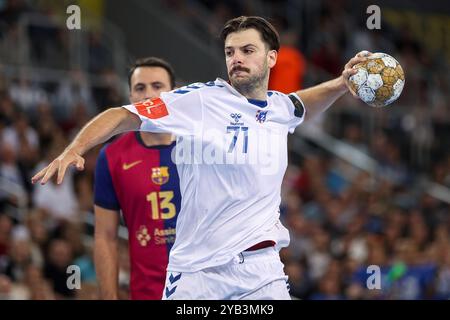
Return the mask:
MULTIPOLYGON (((93 230, 86 221, 93 211, 99 148, 86 155, 86 170, 69 172, 61 185, 51 181, 34 187, 30 178, 101 107, 126 101, 123 80, 112 69, 111 53, 95 32, 88 37, 87 69, 68 65, 68 35, 54 23, 51 3, 30 3, 9 0, 0 7, 0 299, 95 299, 93 230), (41 77, 27 68, 10 71, 23 67, 17 46, 22 39, 19 22, 30 14, 40 20, 26 29, 31 39, 27 61, 31 67, 66 70, 60 77, 41 77), (18 50, 11 50, 11 43, 18 50), (69 265, 80 267, 80 290, 67 286, 69 265)), ((122 297, 126 298, 126 242, 122 247, 122 297)))

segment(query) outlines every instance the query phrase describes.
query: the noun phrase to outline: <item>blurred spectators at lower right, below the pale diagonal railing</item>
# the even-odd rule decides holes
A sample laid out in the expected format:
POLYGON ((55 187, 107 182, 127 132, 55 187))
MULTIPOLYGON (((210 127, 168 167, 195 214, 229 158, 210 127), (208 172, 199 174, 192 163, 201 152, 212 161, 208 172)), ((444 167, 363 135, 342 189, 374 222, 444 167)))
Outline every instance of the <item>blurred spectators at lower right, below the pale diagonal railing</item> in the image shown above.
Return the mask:
POLYGON ((282 218, 291 244, 282 252, 291 294, 302 299, 448 299, 449 205, 408 185, 317 153, 290 166, 282 218), (367 288, 367 267, 381 290, 367 288))

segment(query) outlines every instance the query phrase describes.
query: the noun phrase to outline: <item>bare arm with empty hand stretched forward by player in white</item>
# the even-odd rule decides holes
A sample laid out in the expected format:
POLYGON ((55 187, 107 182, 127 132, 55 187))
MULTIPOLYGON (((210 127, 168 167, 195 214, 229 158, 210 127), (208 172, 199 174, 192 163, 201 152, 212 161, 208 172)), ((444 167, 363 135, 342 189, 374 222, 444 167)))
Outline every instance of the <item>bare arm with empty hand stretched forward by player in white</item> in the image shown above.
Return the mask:
POLYGON ((31 182, 34 184, 40 180, 41 184, 45 184, 57 173, 57 183, 60 184, 70 165, 75 165, 78 170, 84 169, 82 155, 85 152, 116 134, 137 130, 140 125, 139 117, 125 108, 110 108, 102 112, 81 129, 55 160, 31 178, 31 182))

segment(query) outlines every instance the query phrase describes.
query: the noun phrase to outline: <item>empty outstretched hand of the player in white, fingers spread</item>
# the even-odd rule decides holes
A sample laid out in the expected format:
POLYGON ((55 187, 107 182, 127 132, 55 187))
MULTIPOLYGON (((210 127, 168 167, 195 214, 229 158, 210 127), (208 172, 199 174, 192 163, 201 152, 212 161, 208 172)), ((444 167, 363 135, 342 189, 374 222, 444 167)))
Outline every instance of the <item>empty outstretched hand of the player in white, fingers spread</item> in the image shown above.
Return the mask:
POLYGON ((78 170, 84 169, 84 158, 80 156, 75 150, 70 148, 64 150, 55 160, 50 162, 48 166, 39 171, 31 178, 31 183, 35 184, 39 180, 41 184, 46 184, 47 181, 58 173, 57 184, 61 184, 66 174, 66 170, 70 165, 74 165, 78 170))

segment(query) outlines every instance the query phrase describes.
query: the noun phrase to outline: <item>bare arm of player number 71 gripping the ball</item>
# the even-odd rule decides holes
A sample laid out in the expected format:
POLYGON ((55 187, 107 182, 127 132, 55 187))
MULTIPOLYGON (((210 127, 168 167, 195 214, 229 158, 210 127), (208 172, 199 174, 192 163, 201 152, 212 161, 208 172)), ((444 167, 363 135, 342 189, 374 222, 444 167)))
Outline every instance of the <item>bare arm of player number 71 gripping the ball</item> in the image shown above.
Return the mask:
POLYGON ((353 66, 365 61, 367 59, 365 55, 364 52, 360 52, 350 59, 340 77, 296 92, 306 109, 305 121, 328 109, 337 99, 349 91, 348 78, 357 72, 356 69, 353 69, 353 66))

